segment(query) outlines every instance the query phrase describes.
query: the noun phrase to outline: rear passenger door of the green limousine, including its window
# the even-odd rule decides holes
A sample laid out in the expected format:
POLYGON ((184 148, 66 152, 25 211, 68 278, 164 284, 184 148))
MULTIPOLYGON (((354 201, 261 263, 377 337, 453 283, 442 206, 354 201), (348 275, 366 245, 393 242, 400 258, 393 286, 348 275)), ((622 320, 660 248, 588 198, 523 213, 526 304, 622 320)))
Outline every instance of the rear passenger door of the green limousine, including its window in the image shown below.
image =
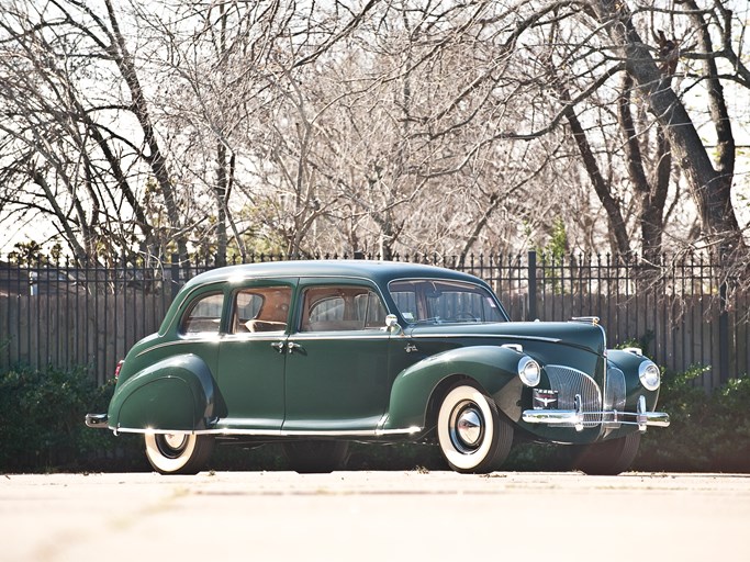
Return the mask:
POLYGON ((220 344, 217 427, 279 430, 284 418, 286 344, 296 280, 256 280, 237 288, 220 344))

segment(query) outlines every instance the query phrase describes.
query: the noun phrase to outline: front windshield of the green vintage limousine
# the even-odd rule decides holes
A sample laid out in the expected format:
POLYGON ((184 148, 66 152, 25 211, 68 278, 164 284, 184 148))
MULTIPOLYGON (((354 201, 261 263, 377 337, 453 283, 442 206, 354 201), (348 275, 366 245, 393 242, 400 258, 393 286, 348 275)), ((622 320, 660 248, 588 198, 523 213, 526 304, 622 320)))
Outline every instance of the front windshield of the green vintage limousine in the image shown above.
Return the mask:
POLYGON ((481 285, 436 279, 389 284, 401 316, 410 324, 505 322, 494 295, 481 285))

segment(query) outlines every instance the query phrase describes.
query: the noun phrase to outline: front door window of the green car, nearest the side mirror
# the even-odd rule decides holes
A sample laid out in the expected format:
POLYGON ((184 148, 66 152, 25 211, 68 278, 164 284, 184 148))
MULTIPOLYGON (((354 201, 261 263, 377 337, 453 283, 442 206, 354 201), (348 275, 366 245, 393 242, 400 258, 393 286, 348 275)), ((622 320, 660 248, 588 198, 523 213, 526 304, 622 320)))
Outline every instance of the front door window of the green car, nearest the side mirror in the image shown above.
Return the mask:
POLYGON ((301 331, 380 329, 385 307, 366 286, 314 286, 305 290, 301 331))

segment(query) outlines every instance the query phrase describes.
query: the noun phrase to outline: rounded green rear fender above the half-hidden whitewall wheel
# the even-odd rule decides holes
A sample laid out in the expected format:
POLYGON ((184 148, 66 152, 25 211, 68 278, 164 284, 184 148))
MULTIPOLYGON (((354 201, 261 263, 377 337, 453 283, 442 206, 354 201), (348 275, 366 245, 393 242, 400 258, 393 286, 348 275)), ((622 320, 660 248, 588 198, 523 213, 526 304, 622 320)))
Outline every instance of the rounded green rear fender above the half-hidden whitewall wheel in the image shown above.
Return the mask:
POLYGON ((214 415, 214 396, 213 376, 200 357, 170 357, 117 384, 109 425, 117 431, 202 429, 214 415))

